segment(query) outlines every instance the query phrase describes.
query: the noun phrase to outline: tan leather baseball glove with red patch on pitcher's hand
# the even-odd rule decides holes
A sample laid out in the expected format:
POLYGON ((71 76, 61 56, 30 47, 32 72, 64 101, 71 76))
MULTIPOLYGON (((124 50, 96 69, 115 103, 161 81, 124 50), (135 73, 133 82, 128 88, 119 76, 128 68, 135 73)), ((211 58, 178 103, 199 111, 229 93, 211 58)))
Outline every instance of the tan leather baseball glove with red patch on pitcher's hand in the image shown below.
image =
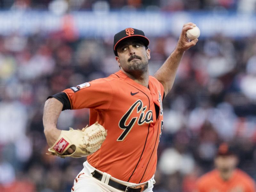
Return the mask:
POLYGON ((107 131, 98 122, 89 127, 86 126, 82 130, 69 128, 69 131, 61 131, 60 137, 48 151, 51 152, 50 155, 57 155, 61 158, 85 157, 97 151, 106 139, 106 136, 107 131), (63 155, 69 147, 74 150, 74 153, 63 155))

